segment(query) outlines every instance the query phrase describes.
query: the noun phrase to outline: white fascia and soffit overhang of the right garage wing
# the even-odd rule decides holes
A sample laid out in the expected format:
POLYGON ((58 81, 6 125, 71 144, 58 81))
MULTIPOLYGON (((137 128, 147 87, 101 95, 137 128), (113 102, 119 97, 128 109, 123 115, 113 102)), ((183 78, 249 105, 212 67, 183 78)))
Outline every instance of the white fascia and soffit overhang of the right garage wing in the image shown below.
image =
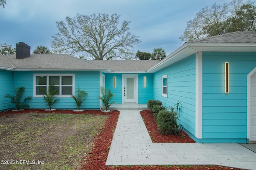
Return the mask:
POLYGON ((156 64, 148 70, 148 72, 156 72, 176 63, 198 51, 202 52, 256 52, 256 43, 184 43, 176 49, 160 63, 156 64))

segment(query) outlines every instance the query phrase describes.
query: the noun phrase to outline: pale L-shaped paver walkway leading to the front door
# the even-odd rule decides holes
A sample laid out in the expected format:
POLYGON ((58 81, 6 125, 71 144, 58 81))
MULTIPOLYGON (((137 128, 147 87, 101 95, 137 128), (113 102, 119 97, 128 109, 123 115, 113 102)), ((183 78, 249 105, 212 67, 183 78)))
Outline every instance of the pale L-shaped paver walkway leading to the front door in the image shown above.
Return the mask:
POLYGON ((140 111, 120 111, 106 165, 187 164, 256 170, 256 153, 237 143, 152 143, 140 111))

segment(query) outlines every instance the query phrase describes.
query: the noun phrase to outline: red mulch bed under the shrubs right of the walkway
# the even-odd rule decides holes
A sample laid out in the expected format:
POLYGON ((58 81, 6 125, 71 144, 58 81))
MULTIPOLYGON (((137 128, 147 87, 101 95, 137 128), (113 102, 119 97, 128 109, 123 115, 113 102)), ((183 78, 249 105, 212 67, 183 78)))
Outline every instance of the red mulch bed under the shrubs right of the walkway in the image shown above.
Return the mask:
POLYGON ((180 135, 163 135, 158 133, 158 128, 156 125, 156 120, 150 110, 143 110, 140 112, 142 119, 148 132, 150 134, 151 140, 155 143, 195 143, 188 134, 184 131, 180 131, 180 135))

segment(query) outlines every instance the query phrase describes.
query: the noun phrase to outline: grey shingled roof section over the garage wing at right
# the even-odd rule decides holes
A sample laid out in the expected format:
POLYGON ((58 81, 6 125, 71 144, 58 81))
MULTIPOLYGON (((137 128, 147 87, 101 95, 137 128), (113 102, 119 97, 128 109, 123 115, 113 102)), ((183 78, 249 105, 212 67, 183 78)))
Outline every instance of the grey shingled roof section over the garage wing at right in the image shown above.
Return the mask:
POLYGON ((202 39, 194 39, 188 43, 256 43, 256 32, 236 31, 202 39))

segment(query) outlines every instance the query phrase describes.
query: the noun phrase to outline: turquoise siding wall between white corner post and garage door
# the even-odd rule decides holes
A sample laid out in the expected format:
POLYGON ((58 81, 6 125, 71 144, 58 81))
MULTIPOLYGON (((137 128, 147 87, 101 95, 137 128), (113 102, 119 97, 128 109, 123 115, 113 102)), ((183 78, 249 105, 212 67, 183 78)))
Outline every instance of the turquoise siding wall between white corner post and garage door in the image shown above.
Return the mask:
POLYGON ((247 74, 256 53, 203 52, 203 138, 200 142, 246 142, 247 74), (225 66, 229 62, 229 94, 225 66), (226 139, 226 140, 223 140, 226 139))

